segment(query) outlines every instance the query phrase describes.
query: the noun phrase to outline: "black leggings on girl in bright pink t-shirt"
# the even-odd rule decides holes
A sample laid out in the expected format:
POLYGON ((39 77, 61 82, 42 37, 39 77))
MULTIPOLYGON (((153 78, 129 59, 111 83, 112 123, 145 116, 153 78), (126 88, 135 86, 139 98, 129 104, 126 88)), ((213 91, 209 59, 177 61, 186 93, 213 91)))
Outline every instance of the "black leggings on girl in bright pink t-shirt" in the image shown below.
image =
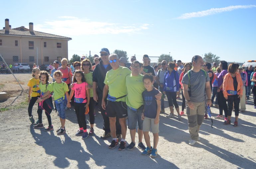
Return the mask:
POLYGON ((86 121, 85 121, 85 106, 86 103, 76 103, 74 102, 75 107, 75 114, 77 117, 77 122, 79 125, 79 128, 83 128, 83 130, 86 130, 86 121))

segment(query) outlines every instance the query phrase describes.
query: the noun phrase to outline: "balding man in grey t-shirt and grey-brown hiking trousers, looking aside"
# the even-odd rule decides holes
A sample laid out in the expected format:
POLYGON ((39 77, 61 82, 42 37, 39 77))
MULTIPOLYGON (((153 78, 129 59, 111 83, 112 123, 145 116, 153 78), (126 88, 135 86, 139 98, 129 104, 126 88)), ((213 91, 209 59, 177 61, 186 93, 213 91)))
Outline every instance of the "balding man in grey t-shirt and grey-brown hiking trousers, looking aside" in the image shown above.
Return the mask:
POLYGON ((194 145, 200 140, 198 132, 203 123, 205 110, 205 91, 207 95, 206 105, 211 105, 210 78, 202 70, 203 59, 201 56, 193 56, 193 67, 186 73, 182 79, 184 96, 187 100, 187 115, 189 124, 189 133, 191 140, 189 145, 194 145))

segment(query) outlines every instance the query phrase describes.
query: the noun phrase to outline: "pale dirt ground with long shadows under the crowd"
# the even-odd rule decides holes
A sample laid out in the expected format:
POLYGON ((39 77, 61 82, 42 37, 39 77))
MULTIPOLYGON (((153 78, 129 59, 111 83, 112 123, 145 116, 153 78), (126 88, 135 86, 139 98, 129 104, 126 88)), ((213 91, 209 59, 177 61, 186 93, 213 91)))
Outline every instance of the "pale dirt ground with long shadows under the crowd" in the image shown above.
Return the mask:
MULTIPOLYGON (((24 93, 16 96, 16 100, 24 103, 24 93)), ((181 100, 178 103, 181 109, 181 100)), ((82 140, 75 136, 78 124, 73 107, 66 111, 66 134, 62 136, 56 133, 60 120, 55 111, 51 114, 54 131, 45 132, 43 129, 33 129, 27 105, 18 109, 14 107, 0 112, 0 168, 256 168, 256 112, 252 104, 251 96, 247 101, 246 112, 239 114, 238 127, 225 126, 223 120, 213 119, 211 128, 211 121, 204 120, 199 132, 201 141, 194 146, 188 144, 190 135, 187 116, 182 116, 183 120, 178 121, 175 111, 174 119, 166 118, 170 110, 165 108, 166 113, 160 115, 156 158, 142 156, 138 148, 130 151, 118 151, 117 147, 108 149, 111 138, 100 139, 103 123, 98 112, 95 117, 95 135, 82 140)), ((218 114, 218 109, 211 110, 212 116, 218 114)), ((33 115, 37 118, 36 106, 33 115)), ((86 121, 89 128, 87 115, 86 121)), ((234 112, 231 124, 233 122, 234 112)), ((44 114, 43 123, 48 126, 44 114)), ((150 134, 150 137, 153 144, 153 135, 150 134)), ((131 142, 129 130, 126 141, 126 145, 131 142)))

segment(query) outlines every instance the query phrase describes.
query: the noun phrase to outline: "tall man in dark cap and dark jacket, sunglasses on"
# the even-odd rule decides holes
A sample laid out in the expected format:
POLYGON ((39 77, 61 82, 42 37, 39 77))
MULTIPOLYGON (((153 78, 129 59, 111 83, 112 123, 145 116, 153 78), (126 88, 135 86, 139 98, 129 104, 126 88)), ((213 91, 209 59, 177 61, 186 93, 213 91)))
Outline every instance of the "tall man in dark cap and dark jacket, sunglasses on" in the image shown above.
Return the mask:
MULTIPOLYGON (((109 64, 109 50, 107 48, 102 48, 100 50, 100 56, 101 61, 99 64, 95 66, 95 69, 93 71, 92 76, 92 88, 93 88, 93 99, 98 102, 98 105, 100 107, 100 112, 103 117, 103 130, 104 134, 100 137, 101 139, 107 139, 111 137, 110 132, 110 125, 109 125, 109 118, 106 116, 106 111, 101 106, 101 101, 103 97, 103 88, 104 88, 104 80, 106 77, 106 73, 112 69, 112 67, 109 64)), ((106 102, 106 98, 105 102, 106 102)), ((116 121, 116 136, 117 138, 120 138, 121 136, 121 126, 119 124, 119 121, 116 121)))

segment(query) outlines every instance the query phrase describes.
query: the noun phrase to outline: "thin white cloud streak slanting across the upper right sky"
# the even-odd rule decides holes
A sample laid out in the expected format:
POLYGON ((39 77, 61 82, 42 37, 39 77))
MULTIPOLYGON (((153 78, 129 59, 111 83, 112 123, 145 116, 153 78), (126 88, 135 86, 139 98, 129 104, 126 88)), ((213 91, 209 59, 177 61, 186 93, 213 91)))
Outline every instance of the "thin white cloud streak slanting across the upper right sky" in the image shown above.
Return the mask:
POLYGON ((197 17, 204 17, 208 15, 214 15, 222 12, 233 11, 236 9, 246 9, 246 8, 256 8, 256 5, 236 5, 236 6, 228 6, 224 8, 211 8, 206 11, 199 11, 199 12, 191 12, 182 14, 177 19, 189 19, 189 18, 197 18, 197 17))

